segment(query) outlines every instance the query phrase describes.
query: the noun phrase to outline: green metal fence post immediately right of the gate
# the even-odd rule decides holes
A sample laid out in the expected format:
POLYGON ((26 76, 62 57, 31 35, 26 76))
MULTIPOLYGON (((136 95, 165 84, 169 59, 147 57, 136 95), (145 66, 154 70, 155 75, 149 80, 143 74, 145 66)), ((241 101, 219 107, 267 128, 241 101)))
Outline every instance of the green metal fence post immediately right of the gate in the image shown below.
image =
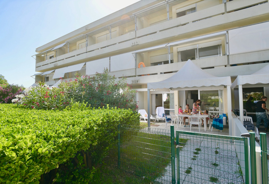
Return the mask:
POLYGON ((249 132, 251 183, 257 183, 255 133, 249 132))

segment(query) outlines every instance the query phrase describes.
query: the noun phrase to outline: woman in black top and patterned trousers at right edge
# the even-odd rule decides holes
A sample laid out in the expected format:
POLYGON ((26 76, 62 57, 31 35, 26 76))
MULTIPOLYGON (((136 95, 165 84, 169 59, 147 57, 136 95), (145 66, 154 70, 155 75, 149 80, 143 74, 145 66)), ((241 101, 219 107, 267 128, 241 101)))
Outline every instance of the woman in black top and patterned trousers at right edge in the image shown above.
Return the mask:
POLYGON ((266 108, 266 103, 265 103, 266 101, 267 101, 267 97, 262 96, 262 99, 256 103, 256 117, 257 117, 256 127, 257 128, 260 127, 261 120, 264 121, 264 127, 265 128, 268 127, 268 117, 265 111, 267 110, 268 112, 269 110, 266 108))

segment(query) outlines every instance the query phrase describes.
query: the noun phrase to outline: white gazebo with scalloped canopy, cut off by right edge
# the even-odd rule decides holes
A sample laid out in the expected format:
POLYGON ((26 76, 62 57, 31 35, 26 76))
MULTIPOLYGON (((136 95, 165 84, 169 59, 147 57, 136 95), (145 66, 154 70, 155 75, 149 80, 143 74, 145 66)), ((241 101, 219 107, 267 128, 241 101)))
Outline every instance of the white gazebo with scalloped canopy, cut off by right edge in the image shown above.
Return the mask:
POLYGON ((239 114, 243 124, 243 88, 244 84, 269 84, 269 64, 250 75, 239 75, 232 84, 232 89, 238 86, 239 114))

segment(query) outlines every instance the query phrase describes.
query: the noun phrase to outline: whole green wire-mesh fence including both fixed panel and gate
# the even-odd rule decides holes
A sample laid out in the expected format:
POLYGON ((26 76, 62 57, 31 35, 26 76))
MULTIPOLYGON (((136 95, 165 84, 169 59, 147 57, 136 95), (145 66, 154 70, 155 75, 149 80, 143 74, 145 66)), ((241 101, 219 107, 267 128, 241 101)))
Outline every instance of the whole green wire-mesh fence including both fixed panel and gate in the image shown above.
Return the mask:
POLYGON ((247 138, 176 131, 174 141, 173 128, 119 126, 118 168, 149 183, 250 183, 247 138))

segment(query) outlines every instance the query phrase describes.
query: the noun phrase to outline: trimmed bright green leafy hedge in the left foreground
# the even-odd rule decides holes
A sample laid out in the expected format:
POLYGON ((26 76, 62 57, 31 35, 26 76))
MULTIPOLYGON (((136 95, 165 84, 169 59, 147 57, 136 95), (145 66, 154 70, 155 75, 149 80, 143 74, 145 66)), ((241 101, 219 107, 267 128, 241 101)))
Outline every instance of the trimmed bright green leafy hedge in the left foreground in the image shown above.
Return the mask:
POLYGON ((0 104, 0 183, 39 183, 43 173, 81 151, 91 168, 117 141, 119 123, 138 125, 139 118, 124 109, 54 111, 0 104))

